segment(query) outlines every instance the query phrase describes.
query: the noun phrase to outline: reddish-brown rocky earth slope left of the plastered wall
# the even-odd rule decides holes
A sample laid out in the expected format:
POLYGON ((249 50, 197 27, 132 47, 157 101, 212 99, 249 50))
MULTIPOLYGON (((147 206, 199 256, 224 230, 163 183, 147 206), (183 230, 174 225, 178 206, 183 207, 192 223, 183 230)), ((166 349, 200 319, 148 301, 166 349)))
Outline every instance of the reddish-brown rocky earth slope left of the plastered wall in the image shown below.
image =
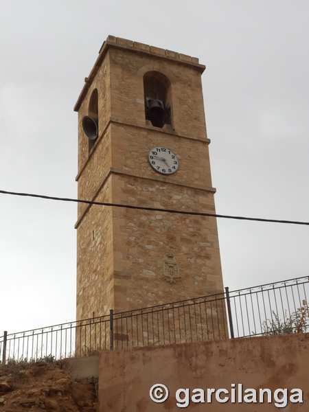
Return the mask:
POLYGON ((0 412, 98 412, 95 389, 74 382, 60 363, 0 364, 0 412))

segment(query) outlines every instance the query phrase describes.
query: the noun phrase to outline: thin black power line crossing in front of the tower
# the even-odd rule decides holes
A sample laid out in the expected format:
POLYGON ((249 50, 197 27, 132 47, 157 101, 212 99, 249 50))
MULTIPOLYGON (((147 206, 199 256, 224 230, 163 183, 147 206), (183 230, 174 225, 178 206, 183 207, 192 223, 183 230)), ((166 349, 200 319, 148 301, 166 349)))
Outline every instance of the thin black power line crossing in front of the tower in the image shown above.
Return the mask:
POLYGON ((138 210, 148 210, 148 211, 163 211, 165 213, 185 214, 185 215, 192 215, 192 216, 208 216, 208 217, 213 217, 213 218, 225 218, 225 219, 235 219, 235 220, 253 220, 255 222, 285 223, 285 224, 288 224, 288 225, 308 225, 309 226, 309 222, 297 222, 295 220, 247 218, 245 216, 220 215, 220 214, 204 213, 204 212, 201 212, 201 211, 184 211, 184 210, 175 210, 175 209, 161 209, 159 207, 121 205, 119 203, 104 203, 104 202, 95 202, 95 201, 84 201, 84 200, 81 200, 81 199, 60 198, 60 197, 56 197, 56 196, 45 196, 43 194, 7 192, 5 190, 0 190, 0 194, 10 194, 10 195, 13 195, 13 196, 28 196, 28 197, 34 197, 34 198, 47 199, 47 200, 50 200, 50 201, 86 203, 87 205, 125 207, 126 209, 138 209, 138 210))

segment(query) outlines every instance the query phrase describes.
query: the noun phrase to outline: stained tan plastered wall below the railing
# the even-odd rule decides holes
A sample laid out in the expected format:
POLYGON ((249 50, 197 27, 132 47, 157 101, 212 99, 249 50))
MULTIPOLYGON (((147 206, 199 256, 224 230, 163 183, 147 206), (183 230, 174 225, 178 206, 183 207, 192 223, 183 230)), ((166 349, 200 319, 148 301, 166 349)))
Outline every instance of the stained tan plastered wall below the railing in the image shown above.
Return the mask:
MULTIPOLYGON (((135 347, 129 350, 102 352, 99 369, 100 411, 179 411, 176 390, 205 391, 205 403, 190 400, 189 410, 194 412, 271 412, 309 410, 309 334, 262 336, 226 341, 207 341, 181 345, 135 347), (150 399, 150 388, 164 384, 170 391, 168 400, 155 403, 150 399), (232 386, 236 384, 236 402, 232 403, 232 386), (238 402, 242 384, 242 403, 238 402), (207 389, 227 389, 220 398, 229 397, 225 403, 216 400, 212 393, 207 403, 207 389), (259 403, 260 389, 270 389, 272 403, 259 403), (276 389, 288 389, 285 395, 276 389), (252 389, 245 393, 245 389, 252 389), (304 403, 290 402, 290 390, 301 389, 304 403), (258 393, 257 403, 244 402, 258 393), (283 398, 280 400, 280 398, 283 398), (284 407, 284 399, 287 405, 284 407), (279 407, 275 406, 275 402, 279 407)), ((185 393, 181 394, 185 398, 185 393)), ((201 399, 196 394, 198 399, 201 399)), ((295 393, 295 400, 299 399, 295 393)))

